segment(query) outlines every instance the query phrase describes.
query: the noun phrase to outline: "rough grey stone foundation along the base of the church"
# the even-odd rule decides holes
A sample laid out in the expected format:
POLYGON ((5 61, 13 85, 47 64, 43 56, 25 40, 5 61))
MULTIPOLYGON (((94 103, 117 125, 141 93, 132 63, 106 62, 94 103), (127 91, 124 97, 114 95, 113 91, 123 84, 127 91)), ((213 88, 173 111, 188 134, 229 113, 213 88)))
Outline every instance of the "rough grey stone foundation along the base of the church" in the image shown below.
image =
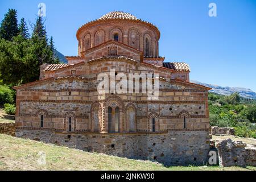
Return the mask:
POLYGON ((170 165, 203 165, 209 152, 209 132, 68 134, 43 130, 16 130, 16 136, 130 159, 170 165))

